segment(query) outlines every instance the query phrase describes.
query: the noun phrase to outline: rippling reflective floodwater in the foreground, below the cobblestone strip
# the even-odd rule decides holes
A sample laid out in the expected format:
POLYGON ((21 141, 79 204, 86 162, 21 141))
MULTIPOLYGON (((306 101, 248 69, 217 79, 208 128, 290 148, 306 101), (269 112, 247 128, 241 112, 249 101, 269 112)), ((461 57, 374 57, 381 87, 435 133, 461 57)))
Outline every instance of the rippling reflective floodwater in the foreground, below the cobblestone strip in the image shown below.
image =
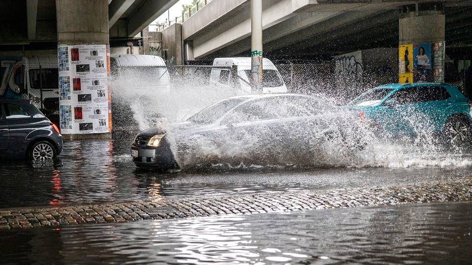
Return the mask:
POLYGON ((472 203, 227 215, 0 233, 2 262, 466 264, 472 203))

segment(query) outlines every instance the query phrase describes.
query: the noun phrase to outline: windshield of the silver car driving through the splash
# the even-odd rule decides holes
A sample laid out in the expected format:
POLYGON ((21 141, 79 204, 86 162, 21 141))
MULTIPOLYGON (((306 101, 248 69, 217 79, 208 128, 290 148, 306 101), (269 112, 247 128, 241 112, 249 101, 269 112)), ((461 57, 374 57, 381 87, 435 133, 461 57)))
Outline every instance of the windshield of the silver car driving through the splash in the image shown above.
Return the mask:
POLYGON ((197 114, 193 115, 192 117, 188 118, 187 121, 196 123, 196 124, 211 124, 214 123, 216 120, 221 118, 224 114, 226 114, 230 109, 234 108, 241 102, 247 100, 246 98, 237 98, 237 99, 227 99, 215 103, 197 114))

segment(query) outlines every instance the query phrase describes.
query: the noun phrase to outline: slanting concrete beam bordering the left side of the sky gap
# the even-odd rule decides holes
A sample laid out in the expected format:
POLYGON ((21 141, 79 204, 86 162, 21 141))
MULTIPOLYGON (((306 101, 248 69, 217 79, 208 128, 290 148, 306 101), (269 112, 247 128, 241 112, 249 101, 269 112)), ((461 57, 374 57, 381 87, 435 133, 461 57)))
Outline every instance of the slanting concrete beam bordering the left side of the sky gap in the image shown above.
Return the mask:
MULTIPOLYGON (((143 28, 148 27, 152 21, 171 8, 178 0, 146 0, 128 18, 128 37, 134 37, 143 28)), ((113 1, 112 1, 113 3, 113 1)))

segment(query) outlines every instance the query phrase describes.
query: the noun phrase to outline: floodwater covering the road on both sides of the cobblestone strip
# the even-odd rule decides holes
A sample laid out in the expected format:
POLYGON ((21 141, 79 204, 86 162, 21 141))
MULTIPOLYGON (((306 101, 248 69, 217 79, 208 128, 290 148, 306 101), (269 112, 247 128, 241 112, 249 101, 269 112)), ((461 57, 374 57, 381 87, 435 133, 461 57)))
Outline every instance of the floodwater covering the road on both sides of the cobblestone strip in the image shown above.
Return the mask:
MULTIPOLYGON (((58 164, 4 162, 0 208, 351 187, 470 178, 471 167, 248 167, 155 172, 136 168, 132 136, 65 142, 58 164)), ((466 160, 466 159, 463 159, 466 160)), ((430 162, 428 162, 430 163, 430 162)), ((468 263, 472 204, 407 204, 230 214, 0 232, 8 263, 468 263)))

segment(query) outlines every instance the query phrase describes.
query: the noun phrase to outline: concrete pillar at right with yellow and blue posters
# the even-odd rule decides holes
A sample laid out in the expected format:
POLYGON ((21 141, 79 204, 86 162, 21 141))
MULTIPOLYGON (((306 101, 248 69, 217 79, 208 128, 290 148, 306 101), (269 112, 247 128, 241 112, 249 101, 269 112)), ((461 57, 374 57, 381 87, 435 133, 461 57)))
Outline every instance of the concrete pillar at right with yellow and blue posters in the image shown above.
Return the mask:
POLYGON ((444 12, 437 10, 404 12, 401 15, 399 82, 444 81, 444 22, 444 12))

